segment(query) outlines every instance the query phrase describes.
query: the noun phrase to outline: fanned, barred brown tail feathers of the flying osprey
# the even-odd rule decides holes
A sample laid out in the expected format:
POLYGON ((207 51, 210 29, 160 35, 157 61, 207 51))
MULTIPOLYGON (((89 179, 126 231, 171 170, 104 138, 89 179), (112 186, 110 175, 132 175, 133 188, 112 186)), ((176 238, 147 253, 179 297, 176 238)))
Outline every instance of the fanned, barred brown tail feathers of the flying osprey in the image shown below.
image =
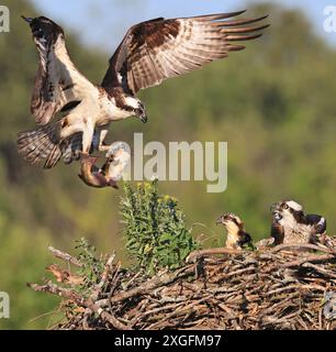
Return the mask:
POLYGON ((61 120, 18 134, 18 151, 31 164, 44 162, 44 168, 54 167, 61 157, 59 133, 61 120))

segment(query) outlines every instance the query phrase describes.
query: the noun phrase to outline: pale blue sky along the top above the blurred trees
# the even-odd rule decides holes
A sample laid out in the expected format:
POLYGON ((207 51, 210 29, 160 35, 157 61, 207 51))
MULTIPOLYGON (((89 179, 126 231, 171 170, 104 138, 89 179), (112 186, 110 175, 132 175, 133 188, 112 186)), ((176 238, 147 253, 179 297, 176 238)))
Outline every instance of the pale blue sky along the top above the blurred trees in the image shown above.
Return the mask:
MULTIPOLYGON (((256 0, 32 0, 41 13, 59 21, 89 45, 114 50, 134 23, 157 16, 176 18, 203 13, 228 12, 248 8, 256 0)), ((267 2, 267 0, 265 1, 267 2)), ((336 45, 336 33, 325 33, 323 10, 332 0, 271 0, 303 10, 316 32, 336 45)))

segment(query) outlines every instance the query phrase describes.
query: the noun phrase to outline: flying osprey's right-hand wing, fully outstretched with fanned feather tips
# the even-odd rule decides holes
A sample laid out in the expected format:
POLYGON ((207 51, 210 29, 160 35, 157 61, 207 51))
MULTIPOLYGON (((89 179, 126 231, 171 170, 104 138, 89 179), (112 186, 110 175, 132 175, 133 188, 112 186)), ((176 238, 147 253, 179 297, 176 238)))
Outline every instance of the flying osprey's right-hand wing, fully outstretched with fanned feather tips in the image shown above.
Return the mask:
POLYGON ((243 12, 159 18, 132 26, 111 57, 102 86, 108 91, 122 86, 135 95, 245 48, 235 42, 259 37, 268 25, 251 25, 267 16, 224 21, 243 12))

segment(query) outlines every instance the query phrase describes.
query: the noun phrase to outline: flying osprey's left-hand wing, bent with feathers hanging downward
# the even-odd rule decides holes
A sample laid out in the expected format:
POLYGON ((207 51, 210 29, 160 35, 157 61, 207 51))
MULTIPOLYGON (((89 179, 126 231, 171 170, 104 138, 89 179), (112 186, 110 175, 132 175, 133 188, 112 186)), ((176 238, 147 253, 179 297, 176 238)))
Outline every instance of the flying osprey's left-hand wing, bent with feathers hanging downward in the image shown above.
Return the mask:
POLYGON ((24 20, 31 25, 40 55, 31 111, 38 124, 46 124, 58 111, 80 103, 94 87, 69 58, 59 25, 43 16, 24 20))

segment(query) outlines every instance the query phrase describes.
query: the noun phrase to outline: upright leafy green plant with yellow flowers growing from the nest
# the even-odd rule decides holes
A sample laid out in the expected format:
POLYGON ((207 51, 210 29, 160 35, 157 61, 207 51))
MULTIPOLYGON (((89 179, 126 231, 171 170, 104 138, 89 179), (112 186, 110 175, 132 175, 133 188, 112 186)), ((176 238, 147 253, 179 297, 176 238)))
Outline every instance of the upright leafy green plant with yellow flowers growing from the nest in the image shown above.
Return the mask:
POLYGON ((177 199, 159 196, 157 180, 137 184, 135 189, 125 184, 124 191, 120 210, 133 268, 153 275, 179 267, 198 243, 177 199))

